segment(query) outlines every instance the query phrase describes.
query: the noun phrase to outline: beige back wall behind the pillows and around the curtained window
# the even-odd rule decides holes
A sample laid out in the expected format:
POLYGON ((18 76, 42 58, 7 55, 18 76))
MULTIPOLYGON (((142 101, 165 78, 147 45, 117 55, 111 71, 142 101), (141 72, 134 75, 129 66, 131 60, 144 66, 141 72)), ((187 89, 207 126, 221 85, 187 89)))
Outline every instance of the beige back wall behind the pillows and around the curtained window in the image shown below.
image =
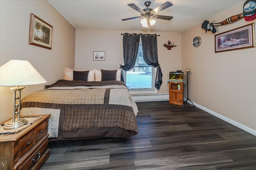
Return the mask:
MULTIPOLYGON (((121 33, 126 33, 126 31, 76 29, 75 68, 78 70, 120 68, 120 64, 123 64, 123 35, 121 33), (105 51, 105 61, 93 61, 93 51, 105 51)), ((128 33, 145 34, 146 32, 128 33)), ((163 32, 156 32, 156 34, 160 35, 157 37, 158 63, 163 73, 163 83, 158 94, 168 94, 169 72, 181 69, 181 34, 163 32), (174 42, 177 47, 167 50, 164 44, 167 44, 168 40, 174 42)))

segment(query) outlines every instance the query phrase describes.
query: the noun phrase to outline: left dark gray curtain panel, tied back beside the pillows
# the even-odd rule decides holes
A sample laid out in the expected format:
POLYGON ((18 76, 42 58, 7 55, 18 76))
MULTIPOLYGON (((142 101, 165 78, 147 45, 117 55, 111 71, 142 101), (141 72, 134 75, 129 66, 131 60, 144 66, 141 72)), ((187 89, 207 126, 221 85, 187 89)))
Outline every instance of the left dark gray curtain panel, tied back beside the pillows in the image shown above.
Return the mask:
MULTIPOLYGON (((137 59, 138 49, 140 45, 140 35, 133 33, 123 34, 123 53, 124 53, 124 65, 120 65, 120 68, 125 71, 131 70, 137 59)), ((121 81, 124 81, 123 71, 121 81)))

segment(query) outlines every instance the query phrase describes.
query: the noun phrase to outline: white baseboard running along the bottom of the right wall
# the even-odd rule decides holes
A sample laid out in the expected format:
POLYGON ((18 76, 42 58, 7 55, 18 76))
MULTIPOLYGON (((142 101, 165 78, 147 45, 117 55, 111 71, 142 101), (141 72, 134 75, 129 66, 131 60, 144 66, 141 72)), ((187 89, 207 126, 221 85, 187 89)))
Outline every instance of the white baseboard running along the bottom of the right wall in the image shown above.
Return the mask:
MULTIPOLYGON (((184 99, 184 100, 186 100, 186 99, 184 99)), ((188 100, 188 103, 192 104, 189 100, 188 100)), ((196 104, 194 102, 193 102, 193 104, 196 105, 196 107, 198 107, 199 109, 202 109, 202 110, 210 113, 211 115, 214 115, 214 116, 216 116, 216 117, 218 117, 218 118, 220 118, 220 119, 222 119, 222 120, 224 120, 224 121, 226 121, 226 122, 228 122, 228 123, 230 123, 230 124, 240 128, 240 129, 242 129, 242 130, 244 130, 244 131, 246 131, 248 133, 251 133, 252 135, 256 136, 256 130, 253 130, 253 129, 247 127, 247 126, 244 126, 244 125, 242 125, 242 124, 240 124, 240 123, 238 123, 238 122, 236 122, 236 121, 234 121, 232 119, 229 119, 228 117, 220 115, 219 113, 216 113, 215 111, 207 109, 206 107, 200 106, 199 104, 196 104)))

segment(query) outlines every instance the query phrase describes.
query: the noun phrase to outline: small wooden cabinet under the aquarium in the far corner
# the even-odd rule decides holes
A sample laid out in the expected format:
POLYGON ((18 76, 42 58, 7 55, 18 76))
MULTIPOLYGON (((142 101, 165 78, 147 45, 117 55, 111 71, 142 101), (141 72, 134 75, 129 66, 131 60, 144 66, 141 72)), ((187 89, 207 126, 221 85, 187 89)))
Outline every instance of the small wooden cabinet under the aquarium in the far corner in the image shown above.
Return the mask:
POLYGON ((183 82, 169 81, 169 103, 183 105, 183 82))

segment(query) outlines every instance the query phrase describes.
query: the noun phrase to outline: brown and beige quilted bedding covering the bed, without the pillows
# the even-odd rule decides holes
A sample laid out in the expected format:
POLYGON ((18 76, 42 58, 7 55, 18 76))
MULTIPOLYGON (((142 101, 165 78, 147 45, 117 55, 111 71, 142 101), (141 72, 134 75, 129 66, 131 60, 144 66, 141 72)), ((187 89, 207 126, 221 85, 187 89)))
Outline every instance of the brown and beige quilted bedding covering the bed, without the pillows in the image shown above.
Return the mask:
POLYGON ((118 80, 58 80, 21 101, 21 114, 51 114, 52 139, 131 137, 138 133, 138 108, 118 80))

